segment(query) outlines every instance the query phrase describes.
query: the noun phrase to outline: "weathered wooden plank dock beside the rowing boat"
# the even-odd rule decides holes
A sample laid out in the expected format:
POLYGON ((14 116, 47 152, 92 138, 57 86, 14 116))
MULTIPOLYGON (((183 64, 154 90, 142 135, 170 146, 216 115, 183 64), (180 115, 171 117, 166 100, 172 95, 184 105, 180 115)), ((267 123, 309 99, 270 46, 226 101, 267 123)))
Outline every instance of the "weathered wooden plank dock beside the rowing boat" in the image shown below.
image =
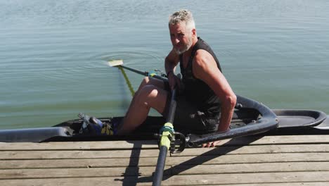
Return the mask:
MULTIPOLYGON (((0 143, 0 185, 152 185, 151 142, 0 143)), ((329 185, 329 135, 242 137, 168 156, 162 185, 329 185)))

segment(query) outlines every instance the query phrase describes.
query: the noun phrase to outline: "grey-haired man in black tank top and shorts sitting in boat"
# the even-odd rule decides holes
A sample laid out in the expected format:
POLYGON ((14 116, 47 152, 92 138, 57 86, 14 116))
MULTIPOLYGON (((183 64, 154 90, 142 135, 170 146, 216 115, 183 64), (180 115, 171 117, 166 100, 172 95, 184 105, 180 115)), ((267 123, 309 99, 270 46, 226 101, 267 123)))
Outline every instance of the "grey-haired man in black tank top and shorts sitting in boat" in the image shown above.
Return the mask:
MULTIPOLYGON (((236 95, 221 73, 212 49, 197 36, 192 13, 187 10, 173 13, 169 17, 169 33, 173 47, 164 62, 169 85, 145 77, 117 130, 118 135, 132 132, 141 125, 150 108, 167 116, 170 89, 174 87, 184 87, 176 98, 175 129, 196 133, 228 130, 236 95), (174 74, 179 63, 182 81, 174 74)), ((217 143, 209 142, 202 147, 214 147, 217 143)))

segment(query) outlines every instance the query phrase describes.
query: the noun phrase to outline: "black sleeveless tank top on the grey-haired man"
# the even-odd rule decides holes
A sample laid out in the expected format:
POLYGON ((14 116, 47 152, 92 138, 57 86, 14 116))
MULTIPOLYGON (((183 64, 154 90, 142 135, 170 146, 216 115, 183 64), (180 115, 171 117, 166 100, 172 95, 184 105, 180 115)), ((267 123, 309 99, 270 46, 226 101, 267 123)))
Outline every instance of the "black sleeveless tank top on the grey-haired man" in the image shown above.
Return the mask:
POLYGON ((195 51, 197 51, 198 49, 203 49, 209 52, 209 54, 214 57, 214 60, 217 63, 217 67, 221 71, 219 61, 210 46, 200 37, 198 37, 198 42, 196 42, 196 44, 193 46, 191 57, 188 60, 188 64, 185 69, 183 68, 182 63, 183 55, 179 56, 181 61, 181 75, 183 75, 183 94, 188 101, 192 101, 196 104, 199 111, 202 111, 206 115, 212 116, 220 112, 221 103, 212 88, 210 88, 205 82, 196 78, 193 75, 192 61, 195 56, 195 51))

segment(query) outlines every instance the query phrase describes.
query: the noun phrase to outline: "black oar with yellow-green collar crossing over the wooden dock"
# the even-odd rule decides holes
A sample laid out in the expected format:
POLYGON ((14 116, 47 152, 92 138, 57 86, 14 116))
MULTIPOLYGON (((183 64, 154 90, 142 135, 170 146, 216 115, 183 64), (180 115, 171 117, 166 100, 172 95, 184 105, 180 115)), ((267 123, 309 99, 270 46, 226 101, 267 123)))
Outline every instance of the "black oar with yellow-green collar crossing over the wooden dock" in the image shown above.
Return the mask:
MULTIPOLYGON (((157 157, 157 167, 153 176, 153 186, 161 185, 162 175, 164 171, 164 164, 166 163, 166 156, 170 147, 170 142, 174 137, 174 116, 176 111, 176 89, 172 90, 172 99, 170 100, 169 113, 167 116, 167 122, 164 123, 160 130, 160 151, 157 157)), ((185 139, 184 139, 185 140, 185 139)))

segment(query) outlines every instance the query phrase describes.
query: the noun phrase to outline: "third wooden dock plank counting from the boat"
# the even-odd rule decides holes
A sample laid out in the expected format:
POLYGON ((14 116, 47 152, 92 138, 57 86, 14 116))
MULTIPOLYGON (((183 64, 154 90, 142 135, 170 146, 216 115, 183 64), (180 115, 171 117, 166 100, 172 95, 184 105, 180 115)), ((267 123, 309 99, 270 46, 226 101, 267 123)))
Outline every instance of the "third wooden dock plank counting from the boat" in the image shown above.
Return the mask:
MULTIPOLYGON (((283 154, 232 154, 222 156, 174 156, 167 157, 166 165, 209 165, 233 163, 280 163, 280 162, 329 161, 329 153, 283 154)), ((2 160, 0 169, 15 168, 106 168, 126 166, 155 166, 157 157, 114 159, 31 159, 2 160)))

